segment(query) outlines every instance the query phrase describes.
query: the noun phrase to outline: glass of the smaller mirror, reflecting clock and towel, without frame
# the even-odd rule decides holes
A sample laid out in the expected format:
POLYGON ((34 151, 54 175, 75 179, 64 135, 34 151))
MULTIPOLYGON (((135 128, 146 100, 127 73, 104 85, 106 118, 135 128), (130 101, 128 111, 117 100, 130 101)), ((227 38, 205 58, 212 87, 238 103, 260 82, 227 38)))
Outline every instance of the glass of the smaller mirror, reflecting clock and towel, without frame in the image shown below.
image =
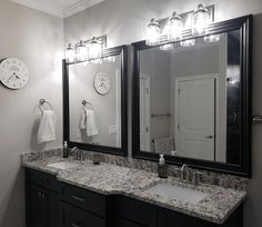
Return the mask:
POLYGON ((70 141, 122 147, 121 55, 69 66, 70 141))

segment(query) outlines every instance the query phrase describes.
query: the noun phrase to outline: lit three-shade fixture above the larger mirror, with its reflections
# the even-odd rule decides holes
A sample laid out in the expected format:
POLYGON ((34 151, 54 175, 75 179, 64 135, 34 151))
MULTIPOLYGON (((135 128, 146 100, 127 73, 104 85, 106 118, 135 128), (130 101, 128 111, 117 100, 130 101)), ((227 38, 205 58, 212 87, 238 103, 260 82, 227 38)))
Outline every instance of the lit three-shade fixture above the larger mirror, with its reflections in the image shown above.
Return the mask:
MULTIPOLYGON (((151 19, 147 27, 148 46, 161 46, 161 50, 169 50, 171 46, 169 42, 181 41, 188 39, 180 45, 182 47, 194 46, 194 36, 205 34, 208 36, 208 28, 210 22, 213 22, 214 6, 204 7, 199 4, 195 10, 178 14, 173 12, 170 18, 160 20, 151 19), (191 37, 192 38, 191 38, 191 37)), ((219 37, 208 37, 206 42, 216 41, 219 37)), ((171 48, 172 49, 172 48, 171 48)))

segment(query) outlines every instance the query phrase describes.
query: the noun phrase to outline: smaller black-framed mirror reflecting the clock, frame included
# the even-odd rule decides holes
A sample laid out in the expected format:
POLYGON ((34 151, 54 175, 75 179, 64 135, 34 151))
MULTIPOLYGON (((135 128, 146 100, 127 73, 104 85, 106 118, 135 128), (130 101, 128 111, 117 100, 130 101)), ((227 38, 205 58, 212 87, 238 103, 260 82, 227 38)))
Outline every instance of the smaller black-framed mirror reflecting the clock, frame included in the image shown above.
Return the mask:
POLYGON ((63 60, 63 139, 69 147, 125 156, 127 46, 100 59, 63 60))

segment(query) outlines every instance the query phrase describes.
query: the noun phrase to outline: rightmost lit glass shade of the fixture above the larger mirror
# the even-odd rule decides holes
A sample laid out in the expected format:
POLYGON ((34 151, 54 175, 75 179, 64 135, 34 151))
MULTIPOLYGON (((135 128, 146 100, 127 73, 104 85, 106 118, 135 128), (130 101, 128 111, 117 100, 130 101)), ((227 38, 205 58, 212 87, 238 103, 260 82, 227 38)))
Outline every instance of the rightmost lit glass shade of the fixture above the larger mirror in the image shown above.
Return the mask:
POLYGON ((193 33, 202 34, 206 32, 209 26, 209 12, 203 4, 199 4, 193 16, 193 33))

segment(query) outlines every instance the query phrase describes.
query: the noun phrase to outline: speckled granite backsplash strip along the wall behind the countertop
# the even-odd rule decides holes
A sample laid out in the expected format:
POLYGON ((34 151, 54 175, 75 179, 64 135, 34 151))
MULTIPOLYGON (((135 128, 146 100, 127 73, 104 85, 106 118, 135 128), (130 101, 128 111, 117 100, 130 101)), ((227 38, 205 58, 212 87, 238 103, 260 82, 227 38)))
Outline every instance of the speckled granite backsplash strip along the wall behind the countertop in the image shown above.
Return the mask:
MULTIPOLYGON (((130 167, 134 169, 142 169, 145 171, 158 172, 158 162, 134 159, 131 157, 114 156, 101 152, 84 152, 84 158, 92 160, 93 155, 99 154, 101 156, 101 161, 107 164, 112 164, 122 167, 130 167)), ((21 156, 21 161, 33 161, 37 159, 49 158, 52 156, 61 156, 62 149, 51 149, 46 151, 34 151, 34 152, 24 152, 21 156)), ((179 177, 177 171, 177 166, 169 165, 169 176, 179 177)), ((201 170, 202 171, 202 170, 201 170)), ((232 188, 236 190, 248 190, 248 178, 236 177, 232 175, 224 175, 213 171, 202 171, 201 182, 216 185, 225 188, 232 188)))

